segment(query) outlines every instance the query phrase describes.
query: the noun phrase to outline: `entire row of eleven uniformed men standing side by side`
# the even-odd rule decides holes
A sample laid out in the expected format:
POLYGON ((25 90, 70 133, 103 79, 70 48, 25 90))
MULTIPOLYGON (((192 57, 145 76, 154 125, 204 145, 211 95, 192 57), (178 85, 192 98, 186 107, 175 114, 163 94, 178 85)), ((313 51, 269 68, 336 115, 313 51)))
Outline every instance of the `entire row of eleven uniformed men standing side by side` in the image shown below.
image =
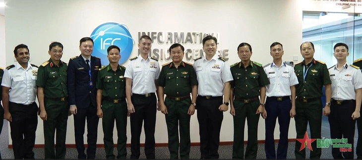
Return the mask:
MULTIPOLYGON (((172 62, 164 64, 162 70, 158 61, 149 57, 152 41, 146 35, 139 39, 140 55, 131 58, 127 67, 119 65, 121 50, 113 45, 107 50, 110 63, 102 67, 100 58, 91 55, 93 40, 89 37, 80 40, 81 55, 70 58, 68 65, 60 60, 63 46, 59 42, 49 46, 50 59, 39 67, 28 62, 30 53, 26 45, 16 46, 17 63, 4 71, 0 68, 4 107, 4 111, 0 107, 0 115, 10 122, 14 158, 34 158, 32 149, 38 123, 36 95, 39 115, 44 120, 46 159, 65 158, 66 124, 70 114, 74 115, 79 159, 95 158, 99 118, 103 118, 106 158, 116 158, 113 154, 116 121, 117 158, 125 159, 127 115, 131 124, 131 159, 140 156, 142 123, 146 158, 155 159, 156 108, 165 114, 171 159, 179 158, 179 149, 181 159, 189 158, 190 116, 196 108, 201 159, 218 159, 223 111, 228 110, 229 102, 234 118, 233 159, 256 158, 260 114, 265 119, 267 159, 287 158, 288 130, 293 117, 297 139, 303 138, 308 123, 310 138, 320 138, 321 116, 324 114, 328 116, 331 138, 348 138, 348 143, 353 146, 355 123, 361 110, 362 72, 358 66, 362 65, 362 58, 355 60, 354 65, 348 64, 346 44, 334 46, 337 64, 328 70, 324 62, 313 58, 314 45, 311 42, 302 43, 300 49, 304 60, 294 67, 283 62, 283 45, 278 42, 270 46, 273 61, 264 66, 250 60, 252 48, 248 43, 238 46, 241 61, 231 66, 216 54, 215 37, 206 36, 202 43, 205 56, 196 59, 193 65, 182 61, 183 46, 173 44, 169 49, 172 62), (323 86, 324 109, 321 100, 323 86), (273 135, 277 117, 280 140, 275 152, 273 135), (87 154, 83 142, 86 119, 87 154), (245 119, 248 140, 244 155, 245 119)), ((361 118, 357 121, 361 134, 361 118)), ((296 142, 295 156, 305 159, 305 149, 302 150, 301 145, 305 144, 296 142)), ((311 143, 311 147, 310 158, 320 158, 321 150, 316 148, 316 142, 311 143)), ((359 139, 358 158, 362 158, 361 150, 362 140, 359 139)), ((332 149, 333 157, 338 159, 354 158, 353 154, 332 149)))

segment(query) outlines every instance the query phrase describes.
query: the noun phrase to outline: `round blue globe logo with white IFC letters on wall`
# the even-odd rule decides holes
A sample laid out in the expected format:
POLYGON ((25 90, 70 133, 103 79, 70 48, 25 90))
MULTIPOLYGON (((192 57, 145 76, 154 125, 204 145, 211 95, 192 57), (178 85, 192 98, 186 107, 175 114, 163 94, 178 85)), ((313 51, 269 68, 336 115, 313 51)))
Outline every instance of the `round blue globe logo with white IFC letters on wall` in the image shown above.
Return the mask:
POLYGON ((92 55, 101 58, 103 65, 108 65, 107 49, 111 45, 118 46, 121 49, 120 64, 125 62, 132 52, 134 40, 124 24, 108 22, 99 25, 92 32, 90 38, 94 41, 92 55))

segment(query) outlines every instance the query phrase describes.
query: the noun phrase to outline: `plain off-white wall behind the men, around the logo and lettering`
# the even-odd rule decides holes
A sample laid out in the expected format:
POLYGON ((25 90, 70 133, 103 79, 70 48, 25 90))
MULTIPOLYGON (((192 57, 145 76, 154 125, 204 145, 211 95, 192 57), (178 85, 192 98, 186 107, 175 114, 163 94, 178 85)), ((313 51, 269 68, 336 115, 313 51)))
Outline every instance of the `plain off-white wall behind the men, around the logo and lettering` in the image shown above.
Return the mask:
MULTIPOLYGON (((64 45, 62 60, 67 62, 69 57, 80 54, 79 39, 90 36, 98 25, 105 22, 127 25, 136 42, 138 32, 220 33, 218 48, 229 49, 229 64, 240 61, 237 56, 237 46, 241 42, 247 42, 252 46, 251 60, 262 64, 272 61, 269 46, 276 41, 284 46, 284 60, 292 61, 293 55, 298 55, 301 60, 300 3, 300 0, 7 0, 6 65, 14 63, 12 50, 20 43, 29 46, 31 63, 40 65, 49 59, 47 51, 52 41, 64 45)), ((154 43, 152 47, 167 49, 169 46, 170 44, 154 43)), ((202 49, 200 44, 184 46, 202 49)), ((136 55, 137 43, 133 45, 130 57, 136 55)), ((168 61, 159 62, 164 64, 168 61)), ((193 63, 193 60, 189 62, 193 63)), ((129 126, 128 121, 127 143, 130 143, 129 126)), ((264 128, 264 120, 260 117, 259 140, 265 139, 264 128)), ((102 144, 101 120, 98 129, 97 143, 102 144)), ((274 135, 278 139, 279 128, 275 130, 274 135)), ((289 138, 295 136, 295 124, 292 119, 289 138)), ((114 139, 117 140, 116 135, 114 139)), ((247 139, 246 129, 244 139, 247 139)), ((220 140, 233 141, 233 118, 229 111, 224 112, 220 140)), ((167 143, 167 141, 165 118, 161 112, 158 112, 156 143, 167 143)), ((141 143, 143 142, 142 134, 141 143)), ((191 142, 199 142, 196 113, 191 117, 191 142)), ((43 143, 43 124, 39 118, 36 144, 43 143)), ((66 143, 74 144, 72 116, 68 119, 66 143)))

